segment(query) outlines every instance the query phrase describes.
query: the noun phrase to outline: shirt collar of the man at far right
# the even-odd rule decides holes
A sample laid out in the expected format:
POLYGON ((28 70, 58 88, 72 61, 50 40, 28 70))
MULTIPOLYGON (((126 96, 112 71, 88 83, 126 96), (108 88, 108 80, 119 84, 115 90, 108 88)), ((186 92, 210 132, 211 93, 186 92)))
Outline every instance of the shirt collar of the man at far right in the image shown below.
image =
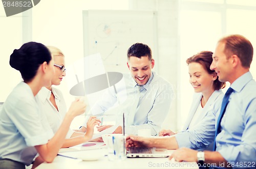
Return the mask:
POLYGON ((240 92, 244 86, 250 81, 252 80, 252 75, 250 73, 250 71, 248 71, 247 73, 245 73, 244 75, 240 76, 237 80, 235 80, 230 87, 232 89, 234 89, 234 91, 236 92, 240 92))

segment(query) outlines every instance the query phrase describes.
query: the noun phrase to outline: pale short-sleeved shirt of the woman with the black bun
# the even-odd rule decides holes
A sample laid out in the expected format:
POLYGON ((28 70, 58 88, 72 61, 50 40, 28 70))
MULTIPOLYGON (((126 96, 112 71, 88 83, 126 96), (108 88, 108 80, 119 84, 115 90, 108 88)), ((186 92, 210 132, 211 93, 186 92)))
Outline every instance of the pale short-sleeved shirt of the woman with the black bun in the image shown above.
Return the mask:
POLYGON ((0 159, 30 165, 37 154, 34 146, 46 144, 52 137, 53 132, 31 88, 20 82, 0 111, 0 159))

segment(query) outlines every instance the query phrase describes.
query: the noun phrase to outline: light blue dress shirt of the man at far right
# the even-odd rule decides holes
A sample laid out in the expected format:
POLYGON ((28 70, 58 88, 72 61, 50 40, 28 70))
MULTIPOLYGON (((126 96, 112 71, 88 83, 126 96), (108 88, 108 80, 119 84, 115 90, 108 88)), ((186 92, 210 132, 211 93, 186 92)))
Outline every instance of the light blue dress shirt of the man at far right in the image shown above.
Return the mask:
POLYGON ((216 137, 216 151, 230 162, 255 162, 256 82, 248 72, 230 87, 234 92, 229 97, 221 120, 221 132, 216 137))

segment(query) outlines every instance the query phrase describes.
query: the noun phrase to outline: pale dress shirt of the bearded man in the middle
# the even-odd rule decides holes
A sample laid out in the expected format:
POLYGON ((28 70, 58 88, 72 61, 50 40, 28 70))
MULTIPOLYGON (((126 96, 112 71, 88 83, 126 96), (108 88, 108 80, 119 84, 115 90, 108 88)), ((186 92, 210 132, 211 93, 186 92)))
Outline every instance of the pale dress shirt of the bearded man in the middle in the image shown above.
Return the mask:
MULTIPOLYGON (((115 85, 116 91, 113 87, 109 88, 90 112, 93 115, 100 115, 116 105, 114 109, 109 111, 116 114, 116 119, 121 122, 120 125, 122 126, 122 113, 124 112, 125 119, 129 118, 130 111, 134 107, 134 100, 138 96, 136 85, 137 83, 131 74, 123 74, 123 79, 115 85)), ((125 126, 125 134, 136 135, 139 129, 150 129, 152 135, 157 135, 169 112, 173 98, 172 85, 153 72, 148 82, 140 89, 139 103, 135 105, 137 108, 134 122, 132 125, 125 126)), ((126 123, 127 120, 125 120, 125 125, 127 125, 126 123)), ((83 126, 86 126, 86 123, 83 126)))

